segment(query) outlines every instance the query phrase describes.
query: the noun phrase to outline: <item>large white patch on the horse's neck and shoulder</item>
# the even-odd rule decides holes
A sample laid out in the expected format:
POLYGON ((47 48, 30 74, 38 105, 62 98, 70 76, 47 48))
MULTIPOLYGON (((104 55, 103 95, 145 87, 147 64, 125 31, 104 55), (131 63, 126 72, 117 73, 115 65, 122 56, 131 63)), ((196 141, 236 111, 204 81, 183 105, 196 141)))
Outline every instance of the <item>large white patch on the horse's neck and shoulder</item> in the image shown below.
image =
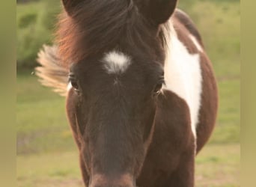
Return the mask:
POLYGON ((177 37, 170 21, 171 33, 168 38, 168 49, 165 59, 165 87, 173 91, 189 105, 192 132, 196 138, 198 113, 201 106, 202 77, 200 57, 189 54, 186 46, 177 37))

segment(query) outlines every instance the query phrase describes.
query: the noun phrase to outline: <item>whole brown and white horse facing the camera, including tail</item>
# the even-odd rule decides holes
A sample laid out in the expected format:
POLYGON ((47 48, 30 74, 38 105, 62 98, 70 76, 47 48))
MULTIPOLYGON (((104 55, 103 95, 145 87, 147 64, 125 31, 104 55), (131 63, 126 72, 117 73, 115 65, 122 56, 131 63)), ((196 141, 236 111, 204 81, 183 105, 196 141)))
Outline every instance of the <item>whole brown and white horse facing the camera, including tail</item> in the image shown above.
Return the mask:
POLYGON ((88 187, 193 187, 216 123, 213 67, 177 0, 62 0, 43 85, 66 96, 88 187))

